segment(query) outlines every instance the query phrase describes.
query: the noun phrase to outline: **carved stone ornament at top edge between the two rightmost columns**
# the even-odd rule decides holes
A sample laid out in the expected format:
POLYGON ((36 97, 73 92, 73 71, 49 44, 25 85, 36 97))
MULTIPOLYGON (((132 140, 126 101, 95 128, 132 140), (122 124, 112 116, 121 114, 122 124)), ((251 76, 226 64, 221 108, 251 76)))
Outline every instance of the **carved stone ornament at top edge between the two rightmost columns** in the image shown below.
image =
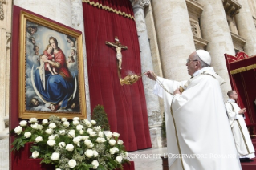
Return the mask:
POLYGON ((222 0, 224 10, 226 11, 226 14, 230 17, 234 17, 234 15, 239 13, 239 10, 241 9, 241 5, 235 1, 235 0, 222 0))

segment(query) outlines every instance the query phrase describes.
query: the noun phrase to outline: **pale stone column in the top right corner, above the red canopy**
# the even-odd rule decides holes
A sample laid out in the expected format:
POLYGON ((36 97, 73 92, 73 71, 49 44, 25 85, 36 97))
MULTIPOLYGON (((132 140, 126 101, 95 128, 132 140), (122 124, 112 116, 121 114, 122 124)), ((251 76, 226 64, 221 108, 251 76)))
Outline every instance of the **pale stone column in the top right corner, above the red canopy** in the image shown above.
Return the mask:
POLYGON ((246 45, 244 47, 246 54, 256 55, 256 29, 248 0, 238 0, 238 3, 242 5, 239 13, 235 16, 238 34, 246 39, 246 45))

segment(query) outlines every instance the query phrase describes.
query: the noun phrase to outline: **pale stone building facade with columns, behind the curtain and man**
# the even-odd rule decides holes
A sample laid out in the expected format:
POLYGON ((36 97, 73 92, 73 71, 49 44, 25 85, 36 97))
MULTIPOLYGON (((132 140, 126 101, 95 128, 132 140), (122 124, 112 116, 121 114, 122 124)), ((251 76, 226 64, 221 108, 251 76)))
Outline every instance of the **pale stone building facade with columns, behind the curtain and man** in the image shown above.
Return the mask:
MULTIPOLYGON (((12 1, 0 0, 0 169, 8 169, 10 39, 12 1), (3 168, 4 167, 4 168, 3 168)), ((230 90, 224 53, 245 51, 256 55, 256 0, 132 0, 139 35, 142 71, 153 70, 166 79, 189 79, 185 60, 196 49, 212 56, 212 66, 226 80, 223 96, 230 90)), ((90 94, 87 79, 86 44, 82 0, 14 0, 14 5, 74 27, 83 33, 87 115, 90 94), (58 9, 58 10, 56 10, 58 9)), ((161 144, 163 101, 152 95, 154 83, 143 78, 152 147, 161 144)))

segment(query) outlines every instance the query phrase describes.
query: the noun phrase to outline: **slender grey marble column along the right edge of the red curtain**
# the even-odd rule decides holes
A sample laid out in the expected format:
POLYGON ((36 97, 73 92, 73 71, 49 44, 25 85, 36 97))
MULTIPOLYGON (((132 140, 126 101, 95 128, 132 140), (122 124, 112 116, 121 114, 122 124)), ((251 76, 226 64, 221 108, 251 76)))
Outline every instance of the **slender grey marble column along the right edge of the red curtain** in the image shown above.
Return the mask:
MULTIPOLYGON (((152 56, 148 42, 148 32, 144 18, 144 7, 148 6, 149 0, 131 1, 136 21, 136 29, 140 43, 141 71, 153 71, 152 56)), ((161 148, 161 113, 159 110, 159 100, 152 93, 154 82, 143 76, 144 92, 148 110, 149 131, 152 140, 152 148, 161 148)))

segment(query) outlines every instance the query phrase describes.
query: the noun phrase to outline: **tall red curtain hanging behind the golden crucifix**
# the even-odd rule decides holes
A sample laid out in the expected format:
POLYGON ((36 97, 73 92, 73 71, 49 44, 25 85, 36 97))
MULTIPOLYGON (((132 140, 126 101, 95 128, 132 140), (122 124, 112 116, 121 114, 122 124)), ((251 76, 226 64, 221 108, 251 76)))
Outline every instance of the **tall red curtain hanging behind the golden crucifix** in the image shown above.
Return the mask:
MULTIPOLYGON (((129 0, 94 2, 133 16, 129 0)), ((86 2, 83 2, 83 18, 91 112, 98 104, 104 106, 111 131, 120 133, 120 139, 124 140, 128 151, 151 148, 142 80, 130 86, 121 86, 117 73, 116 48, 105 44, 105 41, 115 42, 117 36, 122 45, 128 46, 128 50, 122 49, 122 78, 129 71, 141 74, 135 21, 86 2)))

